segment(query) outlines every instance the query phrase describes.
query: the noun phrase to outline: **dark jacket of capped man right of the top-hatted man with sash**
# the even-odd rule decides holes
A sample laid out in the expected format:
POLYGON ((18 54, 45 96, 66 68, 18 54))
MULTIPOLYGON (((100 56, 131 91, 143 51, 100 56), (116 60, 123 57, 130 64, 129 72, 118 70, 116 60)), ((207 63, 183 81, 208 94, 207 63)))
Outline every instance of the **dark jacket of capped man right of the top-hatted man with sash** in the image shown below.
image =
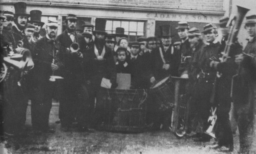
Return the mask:
POLYGON ((182 75, 184 72, 188 72, 189 67, 191 65, 192 61, 192 53, 190 49, 190 44, 188 39, 185 40, 183 43, 180 45, 180 50, 179 50, 179 67, 178 67, 178 75, 182 75))

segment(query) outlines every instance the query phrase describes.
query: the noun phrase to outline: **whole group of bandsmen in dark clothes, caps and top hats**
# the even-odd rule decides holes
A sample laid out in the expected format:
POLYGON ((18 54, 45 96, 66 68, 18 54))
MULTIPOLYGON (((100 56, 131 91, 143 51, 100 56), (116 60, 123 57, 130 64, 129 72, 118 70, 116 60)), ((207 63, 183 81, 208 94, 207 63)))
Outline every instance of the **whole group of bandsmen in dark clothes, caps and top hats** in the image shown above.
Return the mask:
MULTIPOLYGON (((1 83, 4 87, 1 91, 2 120, 8 135, 22 132, 28 99, 31 99, 32 124, 36 133, 54 132, 48 126, 52 98, 60 101, 59 118, 63 131, 70 130, 75 121, 79 131, 96 128, 104 122, 102 79, 109 79, 111 88, 116 88, 117 70, 125 72, 125 67, 130 65, 131 88, 150 88, 170 75, 188 78, 187 91, 192 108, 188 132, 199 132, 196 134, 198 141, 209 141, 210 136, 203 132, 209 126, 210 108, 217 107, 218 145, 226 146, 230 151, 233 150, 233 136, 228 113, 233 101, 240 151, 248 153, 254 132, 256 15, 246 17, 244 27, 249 38, 245 49, 242 50, 238 42, 233 43, 228 60, 223 62, 219 58, 228 38, 228 18, 220 19, 221 41, 217 39, 219 34, 214 24, 205 25, 199 32, 196 27, 190 28, 188 22, 179 22, 176 29, 181 42, 173 43, 173 35, 165 32, 161 35, 161 43, 156 37, 140 37, 126 47, 122 45, 123 42, 126 44, 122 40, 127 40, 124 29, 118 27, 116 34, 107 34, 105 19, 97 18, 95 26, 85 22, 83 31, 78 32, 77 17, 68 14, 67 29, 57 36, 57 20, 41 22, 42 12, 32 10, 27 14, 24 2, 18 2, 14 7, 15 14, 4 11, 0 15, 1 50, 7 51, 7 55, 3 52, 2 58, 10 55, 10 51, 23 54, 21 48, 25 48, 30 54, 23 55, 27 58, 24 67, 28 66, 28 59, 33 62, 29 69, 10 66, 7 79, 1 83), (42 28, 44 24, 45 29, 42 28), (125 61, 122 50, 125 50, 125 61), (217 73, 221 75, 217 77, 217 73)), ((152 114, 155 111, 153 109, 152 114)), ((155 115, 151 117, 154 119, 155 115)), ((159 119, 153 120, 157 121, 159 119)), ((156 127, 160 127, 159 122, 156 127)))

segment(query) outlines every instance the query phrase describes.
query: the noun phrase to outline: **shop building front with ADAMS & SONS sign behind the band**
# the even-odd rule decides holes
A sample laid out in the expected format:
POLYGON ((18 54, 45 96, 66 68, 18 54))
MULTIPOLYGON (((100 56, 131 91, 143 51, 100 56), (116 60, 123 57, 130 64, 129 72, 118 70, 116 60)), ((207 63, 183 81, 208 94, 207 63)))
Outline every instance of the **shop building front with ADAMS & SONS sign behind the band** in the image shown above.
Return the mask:
MULTIPOLYGON (((1 10, 14 11, 17 0, 2 0, 1 10)), ((169 26, 178 39, 175 27, 178 21, 188 21, 191 27, 202 27, 209 22, 218 23, 228 12, 230 0, 27 0, 27 11, 41 10, 42 21, 57 18, 59 34, 65 29, 67 14, 76 14, 81 21, 95 24, 96 18, 107 19, 106 30, 115 33, 124 27, 130 41, 140 36, 161 35, 161 26, 169 26), (229 6, 229 5, 228 5, 229 6)))

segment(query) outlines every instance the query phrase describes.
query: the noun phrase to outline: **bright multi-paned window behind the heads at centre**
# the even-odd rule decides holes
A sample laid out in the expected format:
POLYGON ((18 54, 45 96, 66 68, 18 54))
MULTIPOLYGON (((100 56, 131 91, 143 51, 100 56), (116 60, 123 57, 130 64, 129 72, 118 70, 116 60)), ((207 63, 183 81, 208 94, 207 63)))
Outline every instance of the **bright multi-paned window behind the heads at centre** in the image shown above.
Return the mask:
POLYGON ((136 41, 138 37, 144 36, 144 22, 143 21, 107 20, 106 32, 108 34, 115 34, 116 27, 124 28, 124 34, 128 35, 129 41, 136 41))

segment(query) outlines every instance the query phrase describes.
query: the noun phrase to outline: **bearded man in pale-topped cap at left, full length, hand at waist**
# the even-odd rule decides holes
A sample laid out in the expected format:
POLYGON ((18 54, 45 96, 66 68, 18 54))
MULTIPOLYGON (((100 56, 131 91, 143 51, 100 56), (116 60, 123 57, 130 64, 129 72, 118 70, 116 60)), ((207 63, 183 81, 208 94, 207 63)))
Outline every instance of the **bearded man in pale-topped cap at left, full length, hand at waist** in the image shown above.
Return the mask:
POLYGON ((54 56, 58 56, 59 43, 56 42, 58 23, 55 21, 48 21, 47 34, 45 37, 38 40, 34 50, 33 59, 35 61, 33 79, 35 91, 34 99, 31 100, 31 119, 34 133, 41 132, 55 132, 49 129, 49 114, 52 107, 52 98, 55 91, 57 91, 57 81, 49 81, 52 72, 55 74, 59 71, 61 66, 60 61, 52 63, 54 56), (53 55, 54 54, 54 55, 53 55))

